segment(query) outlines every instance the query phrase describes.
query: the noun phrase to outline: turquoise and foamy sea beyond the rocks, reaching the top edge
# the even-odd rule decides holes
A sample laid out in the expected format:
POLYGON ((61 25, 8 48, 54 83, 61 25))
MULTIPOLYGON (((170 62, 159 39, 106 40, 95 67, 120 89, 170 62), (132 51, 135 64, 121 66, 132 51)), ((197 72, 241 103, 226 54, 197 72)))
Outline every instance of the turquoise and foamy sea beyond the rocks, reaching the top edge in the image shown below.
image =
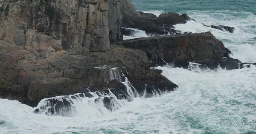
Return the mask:
POLYGON ((159 15, 166 12, 186 13, 197 22, 177 25, 180 31, 212 34, 233 52, 233 58, 256 61, 256 1, 255 0, 131 0, 138 11, 159 15), (207 25, 226 25, 234 33, 220 32, 207 25), (244 53, 247 53, 245 55, 244 53))

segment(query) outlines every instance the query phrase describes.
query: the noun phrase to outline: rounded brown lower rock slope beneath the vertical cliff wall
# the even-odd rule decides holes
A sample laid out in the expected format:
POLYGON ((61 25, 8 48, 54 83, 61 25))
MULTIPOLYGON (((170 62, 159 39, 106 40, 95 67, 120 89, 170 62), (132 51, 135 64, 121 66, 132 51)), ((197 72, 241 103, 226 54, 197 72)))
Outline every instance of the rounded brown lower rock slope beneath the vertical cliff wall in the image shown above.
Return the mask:
POLYGON ((109 52, 91 52, 87 56, 66 50, 44 51, 44 55, 38 56, 22 46, 3 41, 0 41, 0 50, 0 98, 19 100, 29 106, 36 106, 43 98, 85 93, 84 89, 89 87, 101 91, 111 88, 104 84, 112 80, 111 67, 125 67, 122 72, 125 75, 131 72, 128 76, 131 82, 141 81, 138 92, 143 92, 141 87, 145 84, 148 88, 153 86, 152 81, 143 80, 150 77, 163 79, 162 83, 154 85, 161 85, 161 90, 177 87, 149 70, 148 59, 142 50, 111 45, 109 52))

